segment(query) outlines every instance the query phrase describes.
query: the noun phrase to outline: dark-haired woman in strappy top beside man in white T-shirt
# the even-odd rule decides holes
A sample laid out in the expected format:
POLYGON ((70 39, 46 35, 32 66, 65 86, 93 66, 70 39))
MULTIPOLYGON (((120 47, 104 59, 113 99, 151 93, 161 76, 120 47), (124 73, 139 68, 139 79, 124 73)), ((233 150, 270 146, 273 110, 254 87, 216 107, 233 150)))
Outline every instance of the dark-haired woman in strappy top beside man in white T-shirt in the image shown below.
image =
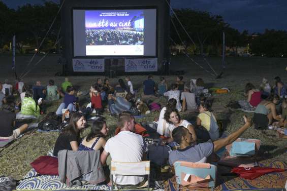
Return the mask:
POLYGON ((97 120, 92 123, 90 133, 83 138, 79 150, 102 150, 106 145, 105 137, 109 128, 105 121, 97 120))

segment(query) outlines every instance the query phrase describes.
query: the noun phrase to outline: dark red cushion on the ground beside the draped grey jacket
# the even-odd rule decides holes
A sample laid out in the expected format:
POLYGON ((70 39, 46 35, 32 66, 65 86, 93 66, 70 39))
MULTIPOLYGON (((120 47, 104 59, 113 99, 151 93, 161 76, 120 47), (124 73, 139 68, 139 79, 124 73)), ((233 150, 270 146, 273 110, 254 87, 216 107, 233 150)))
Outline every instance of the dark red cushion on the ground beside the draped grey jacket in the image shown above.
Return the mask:
POLYGON ((58 175, 58 158, 42 156, 31 162, 35 171, 42 175, 58 175))

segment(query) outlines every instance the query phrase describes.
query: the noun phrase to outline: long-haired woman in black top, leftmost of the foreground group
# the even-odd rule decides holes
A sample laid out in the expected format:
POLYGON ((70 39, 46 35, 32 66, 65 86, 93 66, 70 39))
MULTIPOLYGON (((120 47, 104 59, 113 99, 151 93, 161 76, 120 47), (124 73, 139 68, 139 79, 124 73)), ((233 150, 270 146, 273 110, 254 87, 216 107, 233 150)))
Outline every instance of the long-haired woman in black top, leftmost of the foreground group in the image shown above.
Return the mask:
POLYGON ((56 140, 53 155, 57 157, 58 151, 63 149, 78 150, 80 132, 85 126, 86 120, 83 114, 79 112, 73 113, 69 125, 62 130, 56 140))

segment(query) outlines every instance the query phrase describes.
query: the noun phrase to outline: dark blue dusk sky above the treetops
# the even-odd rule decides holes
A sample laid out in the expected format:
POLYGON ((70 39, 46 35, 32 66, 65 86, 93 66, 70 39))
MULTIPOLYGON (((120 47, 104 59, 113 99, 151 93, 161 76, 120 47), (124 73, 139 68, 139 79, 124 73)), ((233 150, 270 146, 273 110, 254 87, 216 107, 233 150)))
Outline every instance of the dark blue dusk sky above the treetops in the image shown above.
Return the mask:
MULTIPOLYGON (((44 2, 44 0, 2 1, 14 9, 26 3, 44 2)), ((221 15, 231 27, 239 31, 246 29, 249 33, 264 32, 266 28, 287 30, 287 0, 171 0, 171 6, 221 15)))

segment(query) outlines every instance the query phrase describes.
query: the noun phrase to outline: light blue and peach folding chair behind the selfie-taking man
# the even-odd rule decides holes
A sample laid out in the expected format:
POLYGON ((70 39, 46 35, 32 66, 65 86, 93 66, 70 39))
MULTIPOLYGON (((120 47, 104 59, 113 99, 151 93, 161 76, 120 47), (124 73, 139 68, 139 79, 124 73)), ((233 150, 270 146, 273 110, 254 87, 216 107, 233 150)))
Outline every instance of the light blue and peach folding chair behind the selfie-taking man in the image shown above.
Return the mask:
MULTIPOLYGON (((194 175, 200 179, 208 179, 207 187, 215 187, 215 179, 216 179, 216 166, 211 165, 209 163, 190 163, 185 161, 176 161, 174 163, 174 170, 176 176, 176 182, 178 185, 182 185, 182 180, 184 177, 182 175, 194 175)), ((192 184, 190 184, 193 186, 192 184)), ((197 184, 196 184, 197 185, 197 184)))

